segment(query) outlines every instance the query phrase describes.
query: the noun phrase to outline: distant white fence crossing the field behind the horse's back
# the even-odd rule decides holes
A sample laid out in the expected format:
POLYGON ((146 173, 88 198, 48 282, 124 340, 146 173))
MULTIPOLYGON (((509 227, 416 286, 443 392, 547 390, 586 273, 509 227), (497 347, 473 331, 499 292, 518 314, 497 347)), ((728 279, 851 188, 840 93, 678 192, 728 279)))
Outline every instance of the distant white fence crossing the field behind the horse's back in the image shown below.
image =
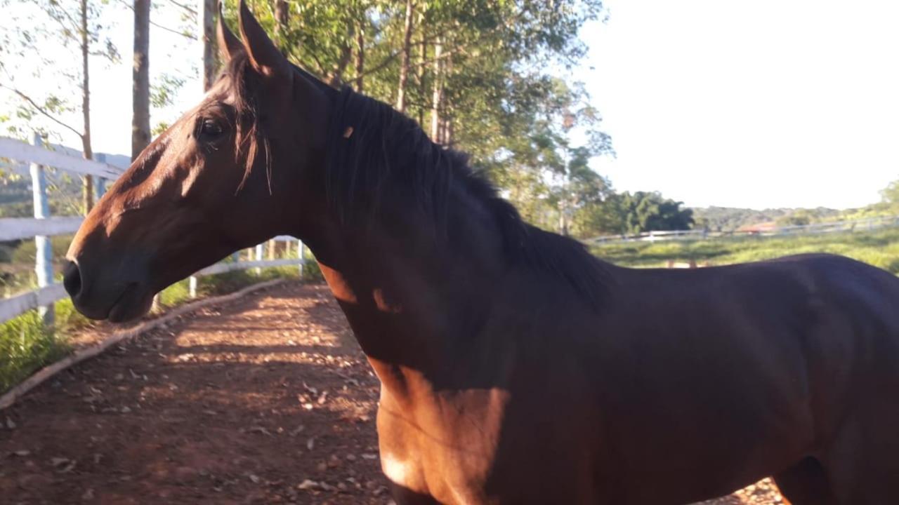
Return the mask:
POLYGON ((899 216, 871 217, 868 219, 852 219, 847 221, 833 221, 830 223, 814 223, 812 225, 776 226, 754 230, 734 230, 726 232, 713 232, 709 230, 671 230, 645 232, 635 235, 604 235, 588 239, 584 242, 586 242, 587 244, 617 244, 622 242, 703 240, 708 238, 734 236, 813 235, 862 230, 867 231, 877 228, 884 228, 886 226, 899 226, 899 216))

